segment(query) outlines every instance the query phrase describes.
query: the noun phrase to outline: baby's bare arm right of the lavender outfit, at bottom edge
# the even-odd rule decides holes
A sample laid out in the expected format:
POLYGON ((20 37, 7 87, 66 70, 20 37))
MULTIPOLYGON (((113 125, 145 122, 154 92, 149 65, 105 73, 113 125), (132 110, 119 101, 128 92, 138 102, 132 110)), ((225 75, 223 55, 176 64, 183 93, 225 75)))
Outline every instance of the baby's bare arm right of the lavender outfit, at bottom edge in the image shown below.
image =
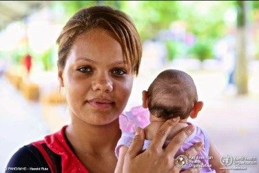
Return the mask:
POLYGON ((218 150, 212 143, 210 143, 210 145, 209 145, 209 156, 213 156, 213 159, 209 160, 209 164, 211 164, 212 169, 214 169, 216 172, 220 172, 220 173, 229 173, 229 170, 220 169, 225 166, 223 166, 220 163, 220 153, 218 152, 218 150))

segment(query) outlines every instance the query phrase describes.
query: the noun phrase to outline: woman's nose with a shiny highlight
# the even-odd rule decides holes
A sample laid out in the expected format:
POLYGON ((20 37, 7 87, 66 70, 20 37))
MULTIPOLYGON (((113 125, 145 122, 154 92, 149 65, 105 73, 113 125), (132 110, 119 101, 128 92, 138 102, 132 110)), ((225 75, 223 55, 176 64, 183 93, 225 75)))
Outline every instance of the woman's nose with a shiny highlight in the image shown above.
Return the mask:
POLYGON ((110 77, 107 77, 105 74, 100 74, 96 76, 96 79, 92 81, 92 90, 101 92, 112 92, 113 83, 110 77))

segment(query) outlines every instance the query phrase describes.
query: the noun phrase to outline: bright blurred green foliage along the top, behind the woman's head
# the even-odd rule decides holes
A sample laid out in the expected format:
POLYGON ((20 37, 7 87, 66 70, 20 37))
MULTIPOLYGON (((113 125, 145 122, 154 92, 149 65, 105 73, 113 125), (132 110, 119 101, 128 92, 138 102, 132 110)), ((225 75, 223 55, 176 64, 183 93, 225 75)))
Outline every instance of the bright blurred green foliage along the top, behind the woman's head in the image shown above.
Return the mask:
POLYGON ((236 1, 60 1, 64 14, 71 17, 89 6, 112 6, 132 17, 143 40, 153 39, 174 21, 185 21, 196 37, 216 39, 225 34, 224 15, 236 1))

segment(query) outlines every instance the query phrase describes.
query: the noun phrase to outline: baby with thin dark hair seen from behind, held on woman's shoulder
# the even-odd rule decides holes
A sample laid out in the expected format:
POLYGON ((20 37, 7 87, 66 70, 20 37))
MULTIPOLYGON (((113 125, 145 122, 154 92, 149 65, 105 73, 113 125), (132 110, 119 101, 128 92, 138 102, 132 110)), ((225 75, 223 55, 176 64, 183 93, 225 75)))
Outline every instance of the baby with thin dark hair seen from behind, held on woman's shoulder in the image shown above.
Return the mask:
MULTIPOLYGON (((145 141, 143 150, 145 150, 160 126, 167 119, 180 116, 179 123, 167 137, 167 141, 164 144, 166 146, 169 140, 180 132, 180 130, 191 124, 187 122, 189 117, 192 119, 197 117, 198 112, 203 108, 203 102, 198 101, 196 86, 189 74, 180 70, 165 70, 158 74, 158 77, 152 82, 147 91, 143 91, 143 108, 148 108, 150 112, 150 124, 144 128, 145 141)), ((134 133, 122 133, 115 150, 118 157, 116 172, 122 172, 123 170, 125 156, 125 149, 123 148, 125 147, 121 146, 125 145, 129 147, 133 138, 134 133)), ((193 163, 201 163, 200 172, 225 172, 224 170, 220 170, 220 167, 223 167, 220 163, 220 154, 209 143, 206 132, 197 126, 194 133, 180 147, 176 157, 198 141, 203 141, 204 149, 198 154, 196 159, 189 161, 189 165, 183 167, 181 171, 186 170, 193 163)))

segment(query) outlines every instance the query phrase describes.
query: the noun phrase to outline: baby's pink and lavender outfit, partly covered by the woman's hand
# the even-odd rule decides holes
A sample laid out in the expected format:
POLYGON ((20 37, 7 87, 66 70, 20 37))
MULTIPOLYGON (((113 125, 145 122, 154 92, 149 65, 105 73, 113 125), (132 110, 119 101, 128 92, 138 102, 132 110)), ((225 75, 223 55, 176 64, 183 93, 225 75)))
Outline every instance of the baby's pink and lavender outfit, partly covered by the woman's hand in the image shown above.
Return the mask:
MULTIPOLYGON (((147 109, 142 108, 142 106, 132 108, 130 112, 125 112, 123 113, 123 115, 120 116, 120 128, 122 134, 121 139, 118 140, 115 149, 115 154, 117 157, 121 145, 126 145, 127 147, 129 147, 132 143, 136 127, 145 128, 145 126, 147 126, 149 123, 149 111, 147 109)), ((209 167, 209 160, 207 159, 209 155, 208 135, 204 130, 198 128, 197 126, 195 126, 194 133, 191 134, 191 136, 189 136, 185 143, 180 147, 180 149, 176 153, 176 157, 184 151, 186 151, 187 149, 189 149, 198 141, 203 141, 204 149, 200 152, 200 154, 198 154, 198 159, 191 160, 192 163, 189 162, 189 165, 183 167, 181 171, 187 170, 190 167, 190 164, 193 164, 194 162, 197 163, 197 160, 199 160, 201 163, 203 163, 203 167, 200 170, 200 172, 215 172, 215 170, 211 170, 211 167, 209 167)), ((150 142, 151 141, 149 140, 144 141, 143 150, 147 149, 150 142)), ((169 143, 169 141, 165 141, 165 145, 167 145, 167 143, 169 143)))

